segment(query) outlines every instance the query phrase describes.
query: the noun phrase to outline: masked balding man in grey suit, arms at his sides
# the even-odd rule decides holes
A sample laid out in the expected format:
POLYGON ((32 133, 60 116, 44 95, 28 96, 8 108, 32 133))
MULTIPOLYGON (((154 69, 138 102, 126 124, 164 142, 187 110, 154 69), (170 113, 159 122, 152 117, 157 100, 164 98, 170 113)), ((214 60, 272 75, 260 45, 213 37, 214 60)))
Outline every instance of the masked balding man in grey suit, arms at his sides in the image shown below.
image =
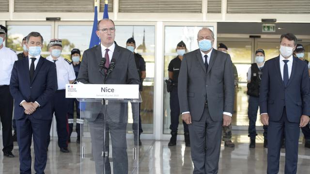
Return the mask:
POLYGON ((217 174, 222 126, 232 122, 234 82, 229 54, 213 49, 214 33, 198 32, 199 49, 186 53, 179 74, 182 119, 188 124, 193 174, 217 174))

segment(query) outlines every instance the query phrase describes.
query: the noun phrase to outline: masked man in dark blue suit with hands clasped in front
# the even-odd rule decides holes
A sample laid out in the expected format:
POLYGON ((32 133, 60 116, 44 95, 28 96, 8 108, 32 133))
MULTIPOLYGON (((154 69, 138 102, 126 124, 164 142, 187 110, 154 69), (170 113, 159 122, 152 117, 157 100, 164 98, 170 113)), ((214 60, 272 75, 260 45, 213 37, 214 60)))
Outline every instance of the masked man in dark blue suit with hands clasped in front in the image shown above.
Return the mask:
POLYGON ((31 174, 31 137, 34 143, 34 170, 44 174, 47 163, 48 124, 52 118, 50 99, 57 84, 54 63, 41 57, 43 37, 38 32, 27 36, 29 56, 14 63, 10 91, 15 100, 20 174, 31 174))

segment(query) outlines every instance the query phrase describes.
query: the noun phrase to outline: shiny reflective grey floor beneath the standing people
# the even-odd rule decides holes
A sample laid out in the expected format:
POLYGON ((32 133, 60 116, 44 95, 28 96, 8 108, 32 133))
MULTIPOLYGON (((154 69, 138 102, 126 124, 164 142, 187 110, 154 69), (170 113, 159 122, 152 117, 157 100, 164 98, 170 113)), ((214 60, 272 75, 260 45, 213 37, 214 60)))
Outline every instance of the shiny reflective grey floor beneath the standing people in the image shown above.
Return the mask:
MULTIPOLYGON (((267 149, 263 148, 263 137, 258 136, 256 148, 249 149, 246 131, 233 131, 233 134, 233 142, 236 144, 234 148, 224 147, 223 143, 221 145, 219 174, 266 173, 267 149)), ((0 139, 0 148, 2 148, 2 137, 0 139)), ((71 152, 68 154, 59 151, 57 139, 54 138, 51 141, 48 148, 46 174, 80 173, 79 145, 75 143, 75 138, 72 138, 71 141, 72 143, 69 144, 71 152)), ((85 140, 85 143, 87 141, 85 140)), ((178 141, 176 146, 168 147, 168 141, 142 140, 139 152, 139 174, 190 174, 193 171, 190 147, 186 147, 183 141, 178 141)), ((16 157, 11 159, 0 155, 0 174, 19 173, 18 146, 16 143, 13 153, 16 157)), ((85 154, 85 158, 92 161, 91 153, 85 154)), ((34 155, 32 155, 32 159, 34 160, 34 155)), ((282 149, 279 174, 284 173, 284 163, 285 149, 282 149)), ((297 173, 309 174, 309 164, 310 149, 304 147, 303 138, 300 137, 297 173)), ((94 169, 91 166, 89 165, 88 169, 82 170, 84 174, 94 174, 94 169)))

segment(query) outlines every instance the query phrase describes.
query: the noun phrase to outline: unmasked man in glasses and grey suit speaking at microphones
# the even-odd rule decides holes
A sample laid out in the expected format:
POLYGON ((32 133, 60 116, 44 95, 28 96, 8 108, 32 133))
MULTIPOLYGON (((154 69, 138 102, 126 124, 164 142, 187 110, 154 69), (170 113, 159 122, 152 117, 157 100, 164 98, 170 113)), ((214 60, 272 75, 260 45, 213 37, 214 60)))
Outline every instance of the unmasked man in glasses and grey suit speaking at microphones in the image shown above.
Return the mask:
MULTIPOLYGON (((115 26, 110 19, 98 22, 96 34, 101 44, 84 51, 77 81, 84 84, 138 84, 139 75, 134 55, 126 48, 114 42, 115 26), (99 72, 99 64, 106 58, 105 68, 99 72), (115 69, 109 73, 110 63, 115 62, 115 69), (109 75, 107 75, 109 73, 109 75)), ((85 116, 89 121, 93 159, 96 174, 110 174, 109 164, 109 134, 112 143, 113 171, 115 174, 128 173, 126 125, 127 103, 111 103, 103 105, 100 102, 86 103, 85 116), (104 133, 106 132, 106 133, 104 133), (105 144, 105 145, 104 145, 105 144), (107 153, 106 153, 107 152, 107 153)))

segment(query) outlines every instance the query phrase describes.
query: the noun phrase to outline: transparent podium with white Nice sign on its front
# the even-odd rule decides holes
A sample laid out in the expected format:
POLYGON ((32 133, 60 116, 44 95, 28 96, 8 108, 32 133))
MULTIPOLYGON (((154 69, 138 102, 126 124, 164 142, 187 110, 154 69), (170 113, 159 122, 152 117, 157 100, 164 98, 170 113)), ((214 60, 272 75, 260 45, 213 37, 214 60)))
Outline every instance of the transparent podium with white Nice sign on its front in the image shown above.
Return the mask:
MULTIPOLYGON (((66 85, 90 137, 80 135, 81 174, 138 174, 139 85, 66 85)), ((84 129, 83 129, 84 127, 84 129)))

